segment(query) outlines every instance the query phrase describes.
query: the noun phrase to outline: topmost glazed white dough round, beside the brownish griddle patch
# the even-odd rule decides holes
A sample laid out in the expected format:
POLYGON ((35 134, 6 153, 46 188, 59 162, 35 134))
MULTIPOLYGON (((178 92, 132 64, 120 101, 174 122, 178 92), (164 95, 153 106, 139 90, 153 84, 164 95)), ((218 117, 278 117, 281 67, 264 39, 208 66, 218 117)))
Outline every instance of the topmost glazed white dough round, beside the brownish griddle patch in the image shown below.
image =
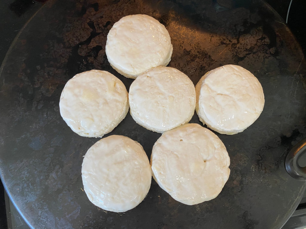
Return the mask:
POLYGON ((121 75, 134 79, 153 67, 166 66, 172 51, 165 26, 144 14, 125 16, 116 22, 105 47, 110 65, 121 75))

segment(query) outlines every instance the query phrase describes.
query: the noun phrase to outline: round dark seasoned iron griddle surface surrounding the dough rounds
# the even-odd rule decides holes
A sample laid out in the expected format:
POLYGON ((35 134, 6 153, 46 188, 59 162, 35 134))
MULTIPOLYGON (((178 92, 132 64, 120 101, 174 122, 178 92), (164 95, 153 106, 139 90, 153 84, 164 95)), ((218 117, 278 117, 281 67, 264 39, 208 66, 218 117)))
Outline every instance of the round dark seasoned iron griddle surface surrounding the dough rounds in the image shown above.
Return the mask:
MULTIPOLYGON (((0 78, 2 181, 31 227, 262 229, 285 223, 305 191, 304 182, 286 173, 284 159, 306 136, 306 64, 268 5, 241 2, 60 0, 40 9, 13 43, 0 78), (194 84, 209 70, 237 64, 263 86, 266 102, 258 120, 243 133, 217 133, 231 173, 211 201, 181 204, 152 180, 140 205, 113 213, 92 205, 83 191, 83 156, 99 139, 71 131, 60 116, 59 98, 73 75, 91 69, 110 71, 129 89, 133 80, 110 67, 105 44, 116 21, 137 13, 166 26, 173 44, 169 66, 194 84)), ((190 122, 200 123, 197 115, 190 122)), ((129 114, 106 136, 111 134, 138 141, 148 157, 161 135, 129 114)))

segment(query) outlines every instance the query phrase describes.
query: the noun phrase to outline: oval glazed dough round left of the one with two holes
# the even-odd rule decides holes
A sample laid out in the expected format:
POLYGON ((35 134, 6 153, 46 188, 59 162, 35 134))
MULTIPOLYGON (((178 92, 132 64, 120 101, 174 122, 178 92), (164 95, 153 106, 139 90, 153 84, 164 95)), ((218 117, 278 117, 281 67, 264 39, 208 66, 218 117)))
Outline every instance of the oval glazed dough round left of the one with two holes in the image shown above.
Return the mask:
POLYGON ((125 212, 143 201, 151 185, 151 167, 143 147, 120 135, 111 135, 89 148, 82 164, 88 199, 112 212, 125 212))

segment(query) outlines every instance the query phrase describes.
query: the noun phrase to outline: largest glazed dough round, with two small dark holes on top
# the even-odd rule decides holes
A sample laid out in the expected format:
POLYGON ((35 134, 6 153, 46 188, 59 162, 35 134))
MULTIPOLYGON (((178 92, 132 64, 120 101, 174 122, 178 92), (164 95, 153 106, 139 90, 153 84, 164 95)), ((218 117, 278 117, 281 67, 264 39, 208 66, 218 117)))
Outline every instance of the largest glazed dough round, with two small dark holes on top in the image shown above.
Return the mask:
POLYGON ((193 123, 164 132, 151 154, 155 181, 187 205, 217 197, 229 178, 229 165, 230 158, 218 136, 193 123))

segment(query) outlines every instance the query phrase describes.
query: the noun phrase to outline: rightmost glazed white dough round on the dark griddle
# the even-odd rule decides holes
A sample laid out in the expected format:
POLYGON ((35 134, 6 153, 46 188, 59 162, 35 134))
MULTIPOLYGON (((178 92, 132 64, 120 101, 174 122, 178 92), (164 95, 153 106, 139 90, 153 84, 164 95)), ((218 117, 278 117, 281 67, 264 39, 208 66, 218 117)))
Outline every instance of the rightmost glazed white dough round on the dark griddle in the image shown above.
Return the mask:
POLYGON ((222 134, 236 134, 263 111, 263 88, 248 70, 224 65, 207 72, 196 84, 196 113, 203 125, 222 134))

